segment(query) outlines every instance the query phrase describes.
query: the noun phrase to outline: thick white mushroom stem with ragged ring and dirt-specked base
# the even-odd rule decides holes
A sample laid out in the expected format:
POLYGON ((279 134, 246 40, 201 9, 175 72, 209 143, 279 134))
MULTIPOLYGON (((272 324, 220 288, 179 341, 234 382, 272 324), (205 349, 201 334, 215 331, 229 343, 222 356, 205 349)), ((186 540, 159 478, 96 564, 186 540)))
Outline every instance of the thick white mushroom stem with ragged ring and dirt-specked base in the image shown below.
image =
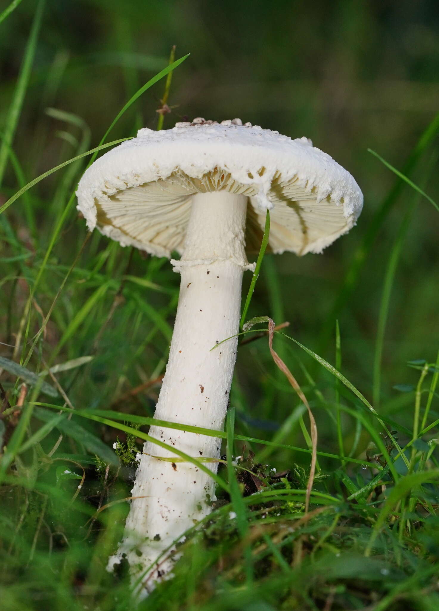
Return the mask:
MULTIPOLYGON (((239 331, 245 257, 247 197, 226 191, 194 195, 184 254, 173 261, 181 274, 180 298, 169 361, 154 417, 221 429, 227 411, 239 331)), ((194 458, 220 457, 220 439, 151 426, 150 435, 194 458)), ((152 442, 145 443, 132 489, 125 538, 110 565, 123 554, 139 578, 173 541, 211 511, 214 480, 152 442), (139 498, 136 498, 139 497, 139 498)), ((217 463, 206 462, 216 472, 217 463)), ((175 551, 175 546, 172 547, 175 551)), ((172 569, 176 555, 147 571, 142 591, 172 569)))

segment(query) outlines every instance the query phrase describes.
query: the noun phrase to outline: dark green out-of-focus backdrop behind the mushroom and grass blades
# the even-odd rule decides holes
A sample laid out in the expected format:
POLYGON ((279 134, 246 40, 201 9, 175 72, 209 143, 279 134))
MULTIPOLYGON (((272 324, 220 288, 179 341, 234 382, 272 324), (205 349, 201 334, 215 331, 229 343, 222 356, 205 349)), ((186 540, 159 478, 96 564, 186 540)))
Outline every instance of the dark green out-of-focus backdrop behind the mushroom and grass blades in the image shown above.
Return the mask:
MULTIPOLYGON (((1 25, 0 125, 12 99, 35 5, 23 1, 1 25)), ((89 148, 97 145, 125 101, 167 65, 172 45, 176 45, 176 57, 186 53, 190 57, 173 74, 169 100, 173 108, 172 114, 165 116, 165 128, 183 117, 241 117, 244 122, 292 137, 310 137, 314 145, 354 175, 365 195, 363 213, 357 227, 322 255, 267 257, 250 315, 271 315, 277 323, 290 321, 289 334, 330 362, 334 362, 338 318, 343 373, 369 399, 385 269, 404 214, 416 200, 391 293, 380 367, 382 409, 397 411, 407 423, 412 406, 404 412, 405 398, 393 386, 416 382, 416 371, 405 365, 408 359, 431 362, 437 353, 439 217, 426 200, 405 186, 378 222, 374 215, 397 179, 367 149, 402 169, 432 121, 439 100, 438 26, 439 5, 427 0, 49 0, 13 148, 27 181, 76 154, 75 139, 81 131, 66 127, 53 113, 49 116, 48 107, 81 117, 91 130, 89 148), (60 131, 68 131, 70 141, 60 131), (377 235, 353 290, 341 307, 334 308, 349 266, 371 227, 376 227, 377 235)), ((140 126, 154 128, 163 89, 164 81, 160 81, 148 90, 118 122, 109 140, 134 135, 140 126)), ((412 174, 433 197, 438 186, 436 162, 434 146, 430 145, 412 174)), ((73 188, 83 168, 84 164, 76 166, 73 188)), ((23 199, 7 211, 21 243, 34 249, 35 256, 26 263, 24 273, 30 284, 54 219, 66 205, 60 181, 60 174, 53 174, 29 194, 37 221, 34 243, 26 226, 23 199)), ((15 174, 8 166, 0 197, 5 200, 16 188, 15 174)), ((72 210, 38 288, 37 301, 43 312, 48 311, 67 269, 62 266, 70 266, 78 254, 84 225, 72 210)), ((81 268, 87 268, 88 262, 95 262, 100 252, 109 248, 106 273, 120 279, 126 273, 128 251, 109 246, 106 238, 97 235, 82 255, 81 268)), ((13 249, 5 242, 0 257, 7 259, 11 254, 13 249)), ((155 265, 136 252, 129 274, 149 274, 154 282, 176 290, 178 276, 170 265, 158 269, 155 265)), ((18 270, 18 263, 4 266, 4 274, 20 273, 18 270)), ((249 281, 250 274, 244 290, 249 281)), ((48 335, 38 348, 46 359, 96 287, 93 282, 81 282, 83 279, 73 274, 56 305, 48 335)), ((142 295, 137 288, 137 295, 142 295)), ((125 302, 111 310, 116 293, 117 287, 110 288, 87 313, 79 331, 63 345, 63 356, 58 357, 95 356, 84 374, 68 382, 71 399, 78 406, 107 406, 118 393, 158 375, 164 366, 165 334, 144 345, 153 320, 139 318, 137 302, 126 296, 125 302)), ((26 288, 20 283, 18 288, 5 284, 2 294, 2 320, 9 327, 2 341, 13 343, 26 288), (11 307, 13 311, 7 314, 11 307)), ((168 295, 147 290, 143 295, 156 311, 169 303, 168 295)), ((172 305, 165 315, 171 326, 174 309, 172 305)), ((37 313, 33 316, 31 335, 41 321, 37 313)), ((325 392, 330 386, 332 393, 332 379, 316 369, 309 357, 292 343, 277 342, 302 384, 308 384, 309 379, 300 370, 299 357, 319 388, 325 392)), ((2 346, 2 354, 11 358, 12 349, 2 346)), ((34 366, 40 367, 36 360, 34 366)), ((286 382, 274 371, 265 340, 242 346, 233 400, 244 428, 248 426, 257 436, 266 434, 261 429, 274 430, 293 406, 287 390, 286 382)), ((155 397, 154 393, 138 395, 140 412, 152 414, 155 397)), ((125 408, 134 409, 130 404, 125 408)), ((348 423, 346 426, 349 429, 348 423)), ((347 430, 347 439, 348 433, 352 431, 347 430)), ((332 449, 336 445, 333 433, 326 433, 322 426, 321 444, 332 449)))

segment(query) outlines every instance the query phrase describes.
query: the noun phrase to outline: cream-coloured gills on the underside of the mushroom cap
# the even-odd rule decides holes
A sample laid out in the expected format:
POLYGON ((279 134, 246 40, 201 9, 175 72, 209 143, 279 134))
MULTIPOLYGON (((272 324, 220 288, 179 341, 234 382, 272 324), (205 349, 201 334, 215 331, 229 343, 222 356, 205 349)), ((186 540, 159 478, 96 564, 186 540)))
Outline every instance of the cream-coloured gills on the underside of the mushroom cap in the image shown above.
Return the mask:
MULTIPOLYGON (((261 167, 258 175, 262 176, 264 171, 261 167)), ((249 178, 253 178, 250 173, 249 178)), ((319 251, 325 246, 320 246, 325 236, 339 235, 350 229, 352 223, 344 216, 339 202, 330 196, 317 202, 317 189, 300 185, 297 175, 288 181, 281 178, 280 173, 274 176, 267 193, 273 205, 269 251, 292 251, 299 255, 319 251)), ((96 221, 98 226, 117 228, 145 247, 158 246, 169 254, 172 251, 181 254, 192 195, 227 191, 249 197, 246 243, 247 252, 251 254, 259 249, 265 222, 265 212, 259 210, 255 199, 258 189, 256 181, 243 184, 220 167, 206 172, 201 178, 190 177, 176 169, 167 178, 95 199, 96 221)))

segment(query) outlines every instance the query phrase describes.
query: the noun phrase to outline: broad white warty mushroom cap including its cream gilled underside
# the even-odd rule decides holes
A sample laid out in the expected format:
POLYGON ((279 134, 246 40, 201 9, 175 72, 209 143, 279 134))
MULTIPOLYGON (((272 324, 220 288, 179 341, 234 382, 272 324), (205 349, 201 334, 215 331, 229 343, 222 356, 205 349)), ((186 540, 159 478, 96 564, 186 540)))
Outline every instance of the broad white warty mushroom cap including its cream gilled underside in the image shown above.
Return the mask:
POLYGON ((363 195, 354 178, 303 137, 239 119, 139 130, 97 159, 79 182, 90 230, 150 254, 183 254, 191 198, 225 190, 249 197, 247 252, 257 252, 270 210, 269 250, 321 252, 355 225, 363 195))

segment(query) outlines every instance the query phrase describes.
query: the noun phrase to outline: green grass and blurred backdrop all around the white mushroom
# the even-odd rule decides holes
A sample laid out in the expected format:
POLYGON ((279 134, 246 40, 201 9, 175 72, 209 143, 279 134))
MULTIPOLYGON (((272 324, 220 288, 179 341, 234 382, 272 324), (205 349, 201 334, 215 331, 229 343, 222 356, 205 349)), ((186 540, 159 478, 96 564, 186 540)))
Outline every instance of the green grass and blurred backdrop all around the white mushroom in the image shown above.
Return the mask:
MULTIPOLYGON (((242 557, 250 546, 227 517, 233 499, 220 507, 228 497, 219 489, 212 527, 201 530, 194 545, 189 541, 176 579, 164 582, 144 608, 274 609, 264 603, 268 596, 272 602, 283 597, 285 610, 335 611, 372 609, 386 596, 373 609, 438 609, 438 491, 419 485, 426 481, 424 468, 432 472, 429 481, 438 474, 437 427, 417 438, 419 417, 422 427, 439 419, 438 378, 430 376, 434 368, 424 370, 416 402, 419 370, 407 361, 437 359, 439 214, 368 152, 438 199, 438 2, 12 4, 15 10, 1 21, 10 0, 0 0, 0 206, 33 178, 98 145, 126 101, 167 65, 173 45, 176 57, 190 56, 173 73, 165 128, 184 117, 240 117, 310 137, 354 175, 365 196, 357 227, 322 255, 264 258, 249 318, 289 321, 288 334, 332 364, 338 320, 340 370, 397 431, 402 447, 413 442, 418 453, 406 448, 406 463, 411 456, 410 469, 424 479, 414 479, 418 473, 400 479, 403 485, 408 480, 412 497, 399 517, 399 510, 383 517, 396 471, 406 474, 407 468, 401 458, 388 463, 390 477, 386 469, 377 475, 358 464, 385 465, 377 449, 382 422, 358 395, 342 384, 337 388, 335 378, 299 346, 277 335, 275 349, 316 417, 317 449, 346 457, 319 456, 314 491, 336 497, 322 502, 317 496, 311 509, 321 505, 316 511, 326 513, 303 521, 310 456, 278 444, 302 450, 309 445, 305 408, 275 367, 266 335, 242 344, 230 395, 235 432, 256 452, 256 462, 269 463, 263 470, 271 474, 274 467, 279 477, 289 471, 285 489, 270 484, 279 490, 272 507, 282 513, 270 518, 264 503, 249 503, 249 528, 257 539, 261 525, 272 520, 273 530, 260 532, 272 533, 275 541, 287 525, 286 561, 279 560, 280 552, 273 552, 272 562, 262 555, 257 579, 244 584, 242 557), (37 5, 43 7, 39 30, 37 5), (29 79, 23 78, 26 62, 29 79), (14 132, 11 147, 5 131, 14 132), (277 443, 256 444, 249 437, 277 443), (370 446, 372 438, 377 447, 370 446), (291 497, 282 496, 287 488, 291 497), (372 526, 376 534, 381 518, 386 528, 366 558, 372 526), (291 598, 285 593, 290 590, 291 598), (249 606, 239 602, 244 599, 249 606)), ((162 79, 143 93, 107 142, 134 136, 142 126, 156 128, 164 86, 162 79)), ((128 437, 127 448, 117 423, 53 414, 67 405, 153 415, 179 276, 167 260, 124 249, 98 232, 84 245, 87 230, 72 194, 88 161, 49 175, 0 214, 0 381, 11 406, 1 400, 0 388, 0 411, 7 409, 0 419, 1 611, 132 608, 128 582, 107 574, 105 566, 122 536, 128 503, 121 501, 130 495, 139 439, 136 448, 136 437, 128 437), (81 357, 87 358, 76 360, 81 357), (66 363, 71 368, 47 372, 66 363), (17 370, 18 364, 27 371, 17 370), (35 390, 34 374, 42 372, 48 387, 35 390), (110 469, 112 448, 120 462, 110 469)), ((390 438, 384 441, 394 458, 390 438)), ((234 453, 244 455, 243 445, 235 441, 234 453)), ((227 476, 223 466, 220 476, 227 476)), ((407 489, 396 492, 405 495, 407 489)))

